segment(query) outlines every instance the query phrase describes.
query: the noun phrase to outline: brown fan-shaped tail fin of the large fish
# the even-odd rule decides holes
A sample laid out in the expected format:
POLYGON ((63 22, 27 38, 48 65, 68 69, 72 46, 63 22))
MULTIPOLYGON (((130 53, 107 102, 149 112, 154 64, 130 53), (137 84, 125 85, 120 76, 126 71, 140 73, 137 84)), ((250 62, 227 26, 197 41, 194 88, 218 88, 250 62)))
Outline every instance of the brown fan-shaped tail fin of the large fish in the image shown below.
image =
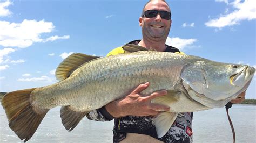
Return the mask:
POLYGON ((2 99, 2 106, 9 121, 9 127, 18 137, 28 141, 49 110, 35 111, 30 103, 33 90, 25 89, 9 92, 2 99))

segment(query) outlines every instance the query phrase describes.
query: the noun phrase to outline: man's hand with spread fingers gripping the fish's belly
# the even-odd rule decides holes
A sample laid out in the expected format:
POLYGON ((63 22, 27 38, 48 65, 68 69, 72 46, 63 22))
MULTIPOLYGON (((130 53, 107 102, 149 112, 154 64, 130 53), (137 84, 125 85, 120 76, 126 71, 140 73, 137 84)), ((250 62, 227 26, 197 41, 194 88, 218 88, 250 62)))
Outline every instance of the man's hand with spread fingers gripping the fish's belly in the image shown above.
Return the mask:
POLYGON ((167 91, 160 90, 150 95, 140 94, 147 87, 149 87, 149 82, 140 84, 131 94, 105 105, 106 110, 115 118, 127 115, 155 116, 160 111, 169 111, 169 106, 151 103, 151 99, 164 96, 167 91))

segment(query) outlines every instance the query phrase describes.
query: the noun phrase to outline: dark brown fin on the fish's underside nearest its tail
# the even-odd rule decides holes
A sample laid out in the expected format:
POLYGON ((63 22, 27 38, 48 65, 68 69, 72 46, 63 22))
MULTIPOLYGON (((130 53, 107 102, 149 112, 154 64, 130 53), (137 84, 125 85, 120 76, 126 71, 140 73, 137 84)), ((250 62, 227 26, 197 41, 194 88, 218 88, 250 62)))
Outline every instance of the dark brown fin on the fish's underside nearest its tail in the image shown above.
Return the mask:
POLYGON ((60 108, 60 118, 62 118, 62 124, 68 131, 72 131, 84 118, 87 112, 73 111, 70 106, 62 106, 60 108))

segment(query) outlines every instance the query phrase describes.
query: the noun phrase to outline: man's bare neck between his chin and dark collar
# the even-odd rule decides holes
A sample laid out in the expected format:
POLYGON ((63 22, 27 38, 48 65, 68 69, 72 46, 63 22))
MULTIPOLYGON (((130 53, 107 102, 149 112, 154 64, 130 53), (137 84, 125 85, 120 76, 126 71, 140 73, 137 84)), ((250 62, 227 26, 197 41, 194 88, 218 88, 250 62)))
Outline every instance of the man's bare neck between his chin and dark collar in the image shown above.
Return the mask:
POLYGON ((139 46, 142 46, 142 47, 145 47, 147 49, 155 49, 156 51, 160 51, 160 52, 163 52, 165 51, 166 49, 166 46, 165 46, 165 42, 163 41, 159 41, 159 42, 150 42, 150 41, 146 41, 146 40, 141 40, 138 44, 139 46))

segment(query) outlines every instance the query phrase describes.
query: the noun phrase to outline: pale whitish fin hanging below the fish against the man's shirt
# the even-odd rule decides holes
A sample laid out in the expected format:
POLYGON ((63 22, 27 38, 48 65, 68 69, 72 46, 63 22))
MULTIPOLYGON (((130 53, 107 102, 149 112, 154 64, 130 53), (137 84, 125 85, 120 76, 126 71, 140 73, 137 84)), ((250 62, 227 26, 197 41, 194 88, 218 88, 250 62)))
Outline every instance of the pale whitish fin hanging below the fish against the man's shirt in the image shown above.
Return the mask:
POLYGON ((162 112, 154 118, 154 124, 156 126, 157 137, 163 137, 171 128, 174 120, 177 118, 178 113, 162 112))

